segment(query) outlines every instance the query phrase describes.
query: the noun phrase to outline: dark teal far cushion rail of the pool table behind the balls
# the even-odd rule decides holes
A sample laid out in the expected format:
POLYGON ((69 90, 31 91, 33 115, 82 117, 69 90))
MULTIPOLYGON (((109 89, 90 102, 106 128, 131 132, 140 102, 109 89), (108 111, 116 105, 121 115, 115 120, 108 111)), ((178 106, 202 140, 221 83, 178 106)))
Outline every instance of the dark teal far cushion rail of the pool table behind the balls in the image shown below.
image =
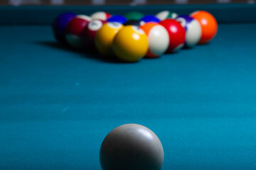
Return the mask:
POLYGON ((149 6, 0 6, 0 24, 51 24, 58 14, 74 12, 90 15, 95 11, 124 14, 128 11, 141 11, 156 14, 171 10, 189 14, 197 10, 213 13, 218 23, 256 22, 256 4, 190 4, 190 5, 149 5, 149 6))

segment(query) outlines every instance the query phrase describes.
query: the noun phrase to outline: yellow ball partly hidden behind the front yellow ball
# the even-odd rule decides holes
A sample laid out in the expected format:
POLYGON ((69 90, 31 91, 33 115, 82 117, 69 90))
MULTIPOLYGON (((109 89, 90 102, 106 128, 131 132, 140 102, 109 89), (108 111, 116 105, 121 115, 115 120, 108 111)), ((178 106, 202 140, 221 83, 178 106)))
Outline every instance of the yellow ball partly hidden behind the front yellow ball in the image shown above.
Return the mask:
POLYGON ((114 40, 114 36, 121 30, 124 26, 121 23, 105 23, 100 30, 97 31, 95 35, 95 46, 97 51, 101 55, 106 57, 112 56, 111 45, 114 40))

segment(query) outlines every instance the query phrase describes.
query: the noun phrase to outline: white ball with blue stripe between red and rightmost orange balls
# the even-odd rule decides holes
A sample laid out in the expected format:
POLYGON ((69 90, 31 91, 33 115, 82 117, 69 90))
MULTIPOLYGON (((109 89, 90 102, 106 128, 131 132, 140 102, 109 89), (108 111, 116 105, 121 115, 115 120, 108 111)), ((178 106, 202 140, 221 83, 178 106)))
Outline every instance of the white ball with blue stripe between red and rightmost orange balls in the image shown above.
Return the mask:
POLYGON ((191 16, 178 16, 176 21, 181 23, 181 26, 186 30, 186 42, 185 47, 195 46, 201 38, 202 30, 200 23, 191 16))

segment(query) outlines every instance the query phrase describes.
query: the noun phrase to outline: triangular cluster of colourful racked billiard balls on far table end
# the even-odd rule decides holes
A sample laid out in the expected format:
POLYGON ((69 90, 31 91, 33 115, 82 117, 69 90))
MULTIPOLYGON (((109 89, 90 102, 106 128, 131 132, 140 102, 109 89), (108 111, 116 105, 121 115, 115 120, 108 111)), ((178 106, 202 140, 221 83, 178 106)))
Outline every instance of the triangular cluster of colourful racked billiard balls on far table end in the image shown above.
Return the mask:
POLYGON ((62 13, 53 22, 53 34, 62 45, 96 48, 102 56, 124 62, 156 58, 183 47, 208 43, 217 30, 217 21, 207 11, 190 15, 161 11, 155 16, 139 12, 125 16, 103 11, 90 16, 62 13))

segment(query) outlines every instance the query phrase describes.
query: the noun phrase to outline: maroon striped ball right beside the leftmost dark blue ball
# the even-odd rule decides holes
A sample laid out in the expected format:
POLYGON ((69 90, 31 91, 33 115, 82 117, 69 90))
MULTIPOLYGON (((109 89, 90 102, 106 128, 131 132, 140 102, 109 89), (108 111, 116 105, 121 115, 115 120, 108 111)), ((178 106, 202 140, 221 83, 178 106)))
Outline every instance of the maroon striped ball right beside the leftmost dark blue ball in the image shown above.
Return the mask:
POLYGON ((65 38, 72 47, 80 48, 84 46, 82 43, 82 31, 90 20, 89 16, 78 15, 68 23, 65 29, 65 38))

